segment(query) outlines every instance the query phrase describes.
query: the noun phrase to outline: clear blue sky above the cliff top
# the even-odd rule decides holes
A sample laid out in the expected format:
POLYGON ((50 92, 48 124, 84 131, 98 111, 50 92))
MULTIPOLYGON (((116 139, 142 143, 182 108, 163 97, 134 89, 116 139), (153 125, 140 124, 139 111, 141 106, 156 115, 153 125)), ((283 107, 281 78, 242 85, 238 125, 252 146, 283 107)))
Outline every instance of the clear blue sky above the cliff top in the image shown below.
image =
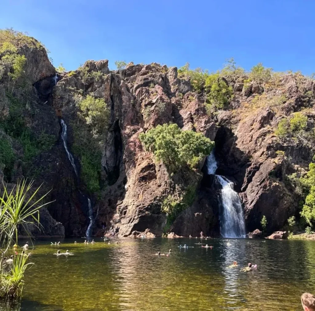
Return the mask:
POLYGON ((0 28, 27 31, 66 70, 108 59, 216 71, 234 57, 315 72, 312 0, 2 0, 1 11, 0 28))

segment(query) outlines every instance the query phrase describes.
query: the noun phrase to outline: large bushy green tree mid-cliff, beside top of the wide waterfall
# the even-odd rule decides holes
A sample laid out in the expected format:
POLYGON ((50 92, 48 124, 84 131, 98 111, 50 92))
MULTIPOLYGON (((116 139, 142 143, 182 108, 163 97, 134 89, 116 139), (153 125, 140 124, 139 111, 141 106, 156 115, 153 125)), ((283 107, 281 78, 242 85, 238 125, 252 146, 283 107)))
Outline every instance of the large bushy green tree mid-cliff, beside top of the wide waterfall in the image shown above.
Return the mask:
POLYGON ((146 150, 171 171, 183 165, 196 167, 214 146, 202 133, 183 131, 177 124, 158 125, 141 133, 139 139, 146 150))

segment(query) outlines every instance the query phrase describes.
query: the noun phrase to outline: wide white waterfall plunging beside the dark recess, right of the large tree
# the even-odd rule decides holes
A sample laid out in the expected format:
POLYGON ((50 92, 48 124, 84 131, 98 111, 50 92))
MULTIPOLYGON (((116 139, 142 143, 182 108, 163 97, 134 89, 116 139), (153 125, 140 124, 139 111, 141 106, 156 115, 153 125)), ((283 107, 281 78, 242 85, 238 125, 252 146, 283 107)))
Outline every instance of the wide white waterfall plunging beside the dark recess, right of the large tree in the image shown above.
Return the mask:
MULTIPOLYGON (((215 175, 218 165, 214 152, 207 158, 208 174, 215 175)), ((233 189, 232 181, 221 175, 215 175, 215 181, 221 184, 220 201, 222 211, 220 215, 220 231, 225 238, 244 238, 245 222, 241 200, 233 189)))

